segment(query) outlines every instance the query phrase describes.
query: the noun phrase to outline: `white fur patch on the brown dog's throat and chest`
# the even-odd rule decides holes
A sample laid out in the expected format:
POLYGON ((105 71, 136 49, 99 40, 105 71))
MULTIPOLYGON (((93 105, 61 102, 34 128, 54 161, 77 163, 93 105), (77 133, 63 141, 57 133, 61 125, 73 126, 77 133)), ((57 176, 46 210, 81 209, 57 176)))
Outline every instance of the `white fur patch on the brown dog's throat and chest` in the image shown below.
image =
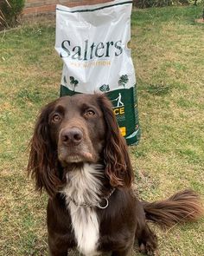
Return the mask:
POLYGON ((99 255, 99 219, 93 207, 79 207, 83 204, 97 205, 102 186, 96 175, 101 170, 85 164, 83 169, 67 174, 67 186, 63 190, 71 214, 73 231, 78 250, 85 256, 99 255), (76 206, 76 204, 78 206, 76 206))

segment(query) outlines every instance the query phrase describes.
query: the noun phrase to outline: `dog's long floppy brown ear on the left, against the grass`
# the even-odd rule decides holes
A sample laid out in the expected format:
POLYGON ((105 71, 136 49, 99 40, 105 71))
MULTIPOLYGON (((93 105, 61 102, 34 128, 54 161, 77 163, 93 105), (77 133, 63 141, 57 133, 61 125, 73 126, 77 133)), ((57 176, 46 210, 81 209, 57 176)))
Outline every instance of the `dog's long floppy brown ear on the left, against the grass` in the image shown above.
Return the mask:
POLYGON ((57 177, 55 166, 57 164, 56 149, 52 145, 48 128, 48 116, 53 108, 54 102, 41 110, 30 141, 28 163, 28 172, 35 180, 35 189, 41 192, 45 188, 50 196, 56 193, 56 188, 61 182, 57 177))

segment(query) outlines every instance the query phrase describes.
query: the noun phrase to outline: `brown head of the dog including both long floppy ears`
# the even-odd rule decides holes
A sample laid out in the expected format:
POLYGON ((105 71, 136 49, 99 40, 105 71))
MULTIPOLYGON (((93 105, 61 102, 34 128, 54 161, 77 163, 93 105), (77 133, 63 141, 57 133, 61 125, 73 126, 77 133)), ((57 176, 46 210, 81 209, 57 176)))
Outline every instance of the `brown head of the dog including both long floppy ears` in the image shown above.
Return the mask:
POLYGON ((36 121, 28 165, 36 189, 54 195, 63 168, 85 162, 103 162, 112 187, 131 186, 131 161, 105 95, 61 97, 36 121))

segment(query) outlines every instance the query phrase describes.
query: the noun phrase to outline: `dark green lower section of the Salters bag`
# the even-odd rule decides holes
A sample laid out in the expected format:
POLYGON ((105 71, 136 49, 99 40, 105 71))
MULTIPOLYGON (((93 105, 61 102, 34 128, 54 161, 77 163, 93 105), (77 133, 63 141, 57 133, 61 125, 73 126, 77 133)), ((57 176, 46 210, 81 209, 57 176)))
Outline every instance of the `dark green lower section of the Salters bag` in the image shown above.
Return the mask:
MULTIPOLYGON (((61 96, 74 95, 74 92, 61 85, 61 96)), ((113 112, 117 117, 121 134, 128 145, 137 144, 140 140, 140 127, 137 109, 137 91, 134 87, 130 89, 117 89, 106 93, 112 101, 113 112)))

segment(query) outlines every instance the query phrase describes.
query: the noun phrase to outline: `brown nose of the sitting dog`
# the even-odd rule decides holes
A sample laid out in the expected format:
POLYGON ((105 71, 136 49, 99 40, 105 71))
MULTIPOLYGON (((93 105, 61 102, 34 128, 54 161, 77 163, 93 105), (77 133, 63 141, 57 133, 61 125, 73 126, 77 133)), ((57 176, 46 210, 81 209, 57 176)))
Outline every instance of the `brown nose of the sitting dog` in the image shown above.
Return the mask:
POLYGON ((64 145, 70 144, 77 146, 83 139, 83 134, 80 128, 68 128, 61 133, 61 141, 64 145))

